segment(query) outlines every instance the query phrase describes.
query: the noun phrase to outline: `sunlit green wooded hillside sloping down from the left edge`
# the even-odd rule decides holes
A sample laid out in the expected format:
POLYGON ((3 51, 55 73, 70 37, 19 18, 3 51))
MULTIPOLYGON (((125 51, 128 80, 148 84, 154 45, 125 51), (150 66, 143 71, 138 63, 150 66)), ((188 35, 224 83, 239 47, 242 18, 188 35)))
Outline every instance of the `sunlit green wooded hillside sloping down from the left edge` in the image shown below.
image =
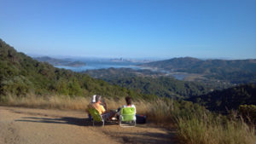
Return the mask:
POLYGON ((55 68, 48 63, 33 60, 18 53, 0 39, 0 95, 104 95, 119 97, 125 95, 148 97, 131 90, 113 86, 90 78, 87 74, 55 68))

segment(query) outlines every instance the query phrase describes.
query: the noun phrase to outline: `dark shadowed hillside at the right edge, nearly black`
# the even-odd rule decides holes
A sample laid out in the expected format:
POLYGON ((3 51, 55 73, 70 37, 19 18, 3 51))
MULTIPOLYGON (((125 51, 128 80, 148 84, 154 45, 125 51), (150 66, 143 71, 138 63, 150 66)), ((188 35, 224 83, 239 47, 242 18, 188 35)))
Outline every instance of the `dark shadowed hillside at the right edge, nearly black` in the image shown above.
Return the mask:
POLYGON ((240 105, 256 105, 256 85, 244 84, 229 89, 216 90, 207 95, 191 97, 188 101, 200 103, 207 109, 217 112, 237 110, 240 105))

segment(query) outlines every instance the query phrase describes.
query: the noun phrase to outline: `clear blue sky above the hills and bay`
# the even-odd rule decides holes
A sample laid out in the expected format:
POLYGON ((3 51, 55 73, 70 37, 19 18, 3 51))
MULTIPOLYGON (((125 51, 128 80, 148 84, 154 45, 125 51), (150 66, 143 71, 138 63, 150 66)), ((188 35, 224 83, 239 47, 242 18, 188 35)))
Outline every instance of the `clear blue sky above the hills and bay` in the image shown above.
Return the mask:
POLYGON ((25 54, 256 58, 256 0, 0 0, 25 54))

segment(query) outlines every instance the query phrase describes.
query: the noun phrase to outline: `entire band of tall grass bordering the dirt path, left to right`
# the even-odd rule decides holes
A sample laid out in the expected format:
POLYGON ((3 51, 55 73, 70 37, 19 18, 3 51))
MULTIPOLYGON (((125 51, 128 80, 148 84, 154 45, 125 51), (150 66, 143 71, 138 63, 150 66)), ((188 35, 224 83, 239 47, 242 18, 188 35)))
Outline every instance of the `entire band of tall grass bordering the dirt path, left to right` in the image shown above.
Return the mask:
MULTIPOLYGON (((108 109, 125 104, 124 99, 105 99, 108 109)), ((68 97, 63 95, 26 95, 2 97, 1 105, 86 110, 90 97, 68 97)), ((208 112, 199 105, 186 101, 158 99, 155 101, 134 101, 137 113, 146 114, 154 124, 169 127, 175 125, 177 138, 188 144, 256 144, 254 126, 242 118, 224 117, 208 112)))

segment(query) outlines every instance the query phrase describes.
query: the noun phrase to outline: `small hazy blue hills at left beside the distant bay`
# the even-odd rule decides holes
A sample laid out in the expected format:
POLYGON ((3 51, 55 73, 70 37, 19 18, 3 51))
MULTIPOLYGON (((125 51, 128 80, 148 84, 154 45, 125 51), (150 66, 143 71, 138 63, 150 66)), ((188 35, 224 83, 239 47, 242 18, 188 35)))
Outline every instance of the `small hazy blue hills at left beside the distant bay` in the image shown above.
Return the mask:
POLYGON ((51 58, 49 56, 36 57, 33 59, 42 61, 42 62, 48 62, 49 64, 54 66, 72 66, 72 67, 86 66, 86 63, 82 61, 61 60, 61 59, 51 58))

